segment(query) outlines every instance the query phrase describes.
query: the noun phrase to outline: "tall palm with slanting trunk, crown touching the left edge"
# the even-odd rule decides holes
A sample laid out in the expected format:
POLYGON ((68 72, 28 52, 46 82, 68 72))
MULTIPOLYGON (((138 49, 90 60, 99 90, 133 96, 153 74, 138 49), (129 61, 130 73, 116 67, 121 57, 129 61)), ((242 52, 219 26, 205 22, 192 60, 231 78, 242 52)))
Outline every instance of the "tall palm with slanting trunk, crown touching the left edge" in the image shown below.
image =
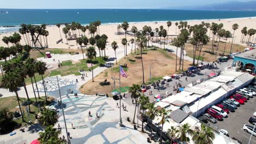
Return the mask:
POLYGON ((1 85, 2 85, 1 87, 8 88, 10 92, 15 92, 16 98, 19 104, 22 121, 24 122, 24 117, 21 110, 20 100, 18 95, 18 87, 22 86, 21 75, 17 73, 17 71, 8 71, 8 73, 4 74, 1 85))

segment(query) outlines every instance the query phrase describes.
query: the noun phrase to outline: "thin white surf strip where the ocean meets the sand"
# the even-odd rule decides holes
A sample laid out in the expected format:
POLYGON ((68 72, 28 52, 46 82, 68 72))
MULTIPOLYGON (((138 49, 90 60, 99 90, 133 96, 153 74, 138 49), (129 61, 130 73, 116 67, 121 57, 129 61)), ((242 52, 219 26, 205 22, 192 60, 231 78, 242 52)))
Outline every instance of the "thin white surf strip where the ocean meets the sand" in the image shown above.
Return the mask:
MULTIPOLYGON (((187 21, 187 22, 190 22, 190 21, 221 21, 221 20, 240 20, 240 19, 254 19, 256 18, 256 16, 253 16, 253 17, 235 17, 235 18, 226 18, 226 19, 193 19, 193 20, 166 20, 166 21, 132 21, 132 22, 129 22, 129 24, 137 24, 137 23, 155 23, 155 22, 158 22, 158 23, 162 23, 162 22, 167 22, 167 21, 171 21, 172 23, 174 22, 179 22, 179 21, 187 21)), ((70 24, 71 22, 66 22, 68 24, 70 24)), ((64 26, 66 23, 60 23, 61 26, 64 26)), ((118 25, 118 24, 121 24, 123 22, 107 22, 107 23, 101 23, 101 25, 118 25)), ((31 24, 31 23, 25 23, 26 25, 28 24, 31 24)), ((43 24, 43 23, 42 23, 43 24)), ((31 24, 31 25, 42 25, 42 24, 31 24)), ((44 23, 45 24, 45 23, 44 23)), ((90 23, 80 23, 82 26, 86 26, 86 25, 90 25, 90 23)), ((48 27, 51 27, 51 26, 56 26, 56 23, 55 24, 45 24, 46 26, 48 27)), ((20 28, 20 26, 0 26, 0 32, 1 32, 1 28, 20 28)))

